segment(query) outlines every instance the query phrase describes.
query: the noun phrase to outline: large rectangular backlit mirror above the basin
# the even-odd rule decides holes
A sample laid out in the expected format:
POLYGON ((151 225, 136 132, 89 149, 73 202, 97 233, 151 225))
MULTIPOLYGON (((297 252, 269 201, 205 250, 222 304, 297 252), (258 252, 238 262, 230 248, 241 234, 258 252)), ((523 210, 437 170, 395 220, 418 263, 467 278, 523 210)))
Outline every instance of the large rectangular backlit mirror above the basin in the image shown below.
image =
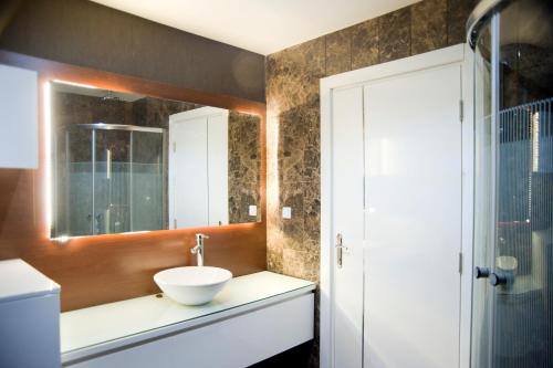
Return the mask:
POLYGON ((260 117, 50 83, 52 238, 260 220, 260 117))

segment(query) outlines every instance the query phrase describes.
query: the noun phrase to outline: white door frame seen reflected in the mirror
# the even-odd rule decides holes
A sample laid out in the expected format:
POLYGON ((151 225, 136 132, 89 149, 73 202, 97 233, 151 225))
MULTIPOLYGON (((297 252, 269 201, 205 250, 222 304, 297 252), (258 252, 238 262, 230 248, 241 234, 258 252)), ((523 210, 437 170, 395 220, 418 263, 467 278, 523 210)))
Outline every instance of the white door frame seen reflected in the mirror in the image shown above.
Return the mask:
MULTIPOLYGON (((205 107, 198 107, 194 109, 189 109, 186 112, 181 113, 176 113, 173 115, 169 115, 169 138, 168 138, 168 150, 169 155, 168 157, 168 170, 167 170, 167 201, 168 201, 168 213, 169 213, 169 219, 168 219, 168 229, 169 230, 175 230, 175 174, 177 172, 175 169, 175 149, 173 148, 174 146, 174 137, 175 137, 175 125, 176 124, 182 124, 186 120, 192 120, 198 117, 209 117, 209 116, 215 116, 215 115, 221 115, 223 118, 229 118, 229 111, 226 108, 220 108, 220 107, 212 107, 212 106, 205 106, 205 107)), ((207 148, 207 147, 206 147, 207 148)), ((208 224, 206 224, 208 225, 208 224)))

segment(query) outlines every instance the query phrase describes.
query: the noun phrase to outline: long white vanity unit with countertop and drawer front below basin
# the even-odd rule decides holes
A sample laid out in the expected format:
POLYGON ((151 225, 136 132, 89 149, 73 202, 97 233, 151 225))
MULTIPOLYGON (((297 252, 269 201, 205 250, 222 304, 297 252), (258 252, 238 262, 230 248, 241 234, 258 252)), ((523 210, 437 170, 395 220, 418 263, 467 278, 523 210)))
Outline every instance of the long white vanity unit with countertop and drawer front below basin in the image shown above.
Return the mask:
POLYGON ((315 285, 259 272, 211 303, 155 295, 62 314, 62 362, 74 368, 240 368, 309 341, 315 285))

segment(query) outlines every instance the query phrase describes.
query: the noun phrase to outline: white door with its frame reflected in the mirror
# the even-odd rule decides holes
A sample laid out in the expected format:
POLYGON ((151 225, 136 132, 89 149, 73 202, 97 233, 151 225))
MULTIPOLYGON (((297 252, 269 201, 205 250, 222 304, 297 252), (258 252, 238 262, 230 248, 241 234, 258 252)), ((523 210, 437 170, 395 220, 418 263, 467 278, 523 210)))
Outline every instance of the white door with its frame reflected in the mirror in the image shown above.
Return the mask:
POLYGON ((200 107, 169 116, 169 228, 229 223, 229 111, 200 107))

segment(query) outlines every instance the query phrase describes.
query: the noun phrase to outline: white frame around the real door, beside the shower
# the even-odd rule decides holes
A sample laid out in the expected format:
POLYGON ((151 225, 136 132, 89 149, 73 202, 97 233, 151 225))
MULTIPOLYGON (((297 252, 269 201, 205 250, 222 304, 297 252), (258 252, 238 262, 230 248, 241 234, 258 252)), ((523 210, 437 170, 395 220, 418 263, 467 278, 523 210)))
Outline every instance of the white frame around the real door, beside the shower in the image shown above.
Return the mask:
POLYGON ((461 271, 459 367, 470 367, 471 305, 472 305, 472 198, 473 198, 473 114, 472 65, 473 51, 458 44, 397 61, 367 66, 321 80, 321 315, 320 364, 332 367, 333 359, 333 262, 332 234, 332 96, 333 90, 364 85, 395 75, 437 66, 458 64, 461 69, 461 271))

